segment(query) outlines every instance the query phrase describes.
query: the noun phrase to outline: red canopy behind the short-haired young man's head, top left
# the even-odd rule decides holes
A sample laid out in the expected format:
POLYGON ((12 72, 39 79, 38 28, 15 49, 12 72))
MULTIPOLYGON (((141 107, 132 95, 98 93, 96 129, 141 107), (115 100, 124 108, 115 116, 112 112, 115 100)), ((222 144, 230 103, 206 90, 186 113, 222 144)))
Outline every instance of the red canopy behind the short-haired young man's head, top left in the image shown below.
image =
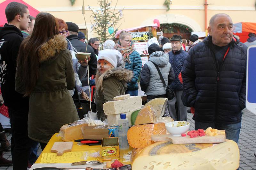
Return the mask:
POLYGON ((36 15, 40 12, 22 0, 6 0, 0 4, 0 16, 2 16, 0 18, 0 26, 3 26, 5 23, 7 23, 7 19, 5 17, 5 8, 11 2, 18 2, 18 3, 26 5, 28 7, 30 15, 33 17, 36 17, 36 15))

